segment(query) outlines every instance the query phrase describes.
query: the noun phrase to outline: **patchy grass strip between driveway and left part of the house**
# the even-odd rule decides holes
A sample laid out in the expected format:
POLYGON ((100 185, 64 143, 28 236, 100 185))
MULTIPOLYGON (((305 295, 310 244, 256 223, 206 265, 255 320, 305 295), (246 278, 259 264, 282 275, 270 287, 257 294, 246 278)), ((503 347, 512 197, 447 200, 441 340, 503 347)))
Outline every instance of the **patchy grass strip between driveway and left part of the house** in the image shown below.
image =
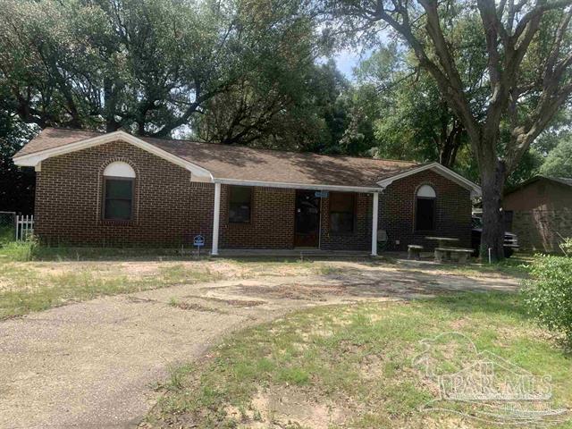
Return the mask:
MULTIPOLYGON (((0 320, 105 295, 164 288, 176 284, 214 282, 271 275, 325 273, 326 265, 296 260, 239 262, 176 255, 151 256, 131 250, 106 258, 88 249, 81 257, 49 262, 18 262, 0 248, 0 320), (84 260, 98 256, 103 260, 84 260), (130 258, 131 257, 131 258, 130 258)), ((19 249, 20 250, 20 249, 19 249)), ((25 248, 24 248, 25 250, 25 248)), ((55 254, 52 254, 52 256, 55 254)), ((80 255, 80 253, 78 253, 80 255)))

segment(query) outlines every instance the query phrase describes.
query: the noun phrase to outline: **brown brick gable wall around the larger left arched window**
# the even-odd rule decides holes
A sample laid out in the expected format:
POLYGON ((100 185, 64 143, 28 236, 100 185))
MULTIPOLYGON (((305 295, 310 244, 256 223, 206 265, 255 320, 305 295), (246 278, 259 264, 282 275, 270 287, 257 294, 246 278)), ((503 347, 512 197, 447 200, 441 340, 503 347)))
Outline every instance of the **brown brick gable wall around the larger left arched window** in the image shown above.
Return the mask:
POLYGON ((214 185, 191 183, 190 172, 128 143, 114 142, 56 156, 37 176, 36 233, 52 245, 179 247, 199 231, 210 242, 214 185), (129 163, 135 180, 134 219, 101 220, 103 171, 129 163))

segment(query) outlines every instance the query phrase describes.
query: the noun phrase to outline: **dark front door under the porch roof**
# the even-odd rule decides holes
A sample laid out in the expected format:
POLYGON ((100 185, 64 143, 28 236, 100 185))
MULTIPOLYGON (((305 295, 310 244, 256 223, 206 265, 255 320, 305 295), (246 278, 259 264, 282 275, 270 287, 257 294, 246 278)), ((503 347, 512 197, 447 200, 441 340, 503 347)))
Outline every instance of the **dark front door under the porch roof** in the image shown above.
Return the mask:
POLYGON ((294 246, 317 248, 320 240, 320 198, 315 190, 296 191, 294 246))

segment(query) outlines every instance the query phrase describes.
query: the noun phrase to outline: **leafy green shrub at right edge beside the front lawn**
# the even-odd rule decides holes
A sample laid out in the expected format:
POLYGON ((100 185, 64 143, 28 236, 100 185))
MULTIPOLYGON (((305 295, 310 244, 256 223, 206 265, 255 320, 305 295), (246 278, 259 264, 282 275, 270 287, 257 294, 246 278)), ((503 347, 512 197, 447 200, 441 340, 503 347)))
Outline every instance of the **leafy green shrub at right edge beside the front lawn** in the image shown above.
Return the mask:
POLYGON ((528 310, 572 347, 572 257, 537 255, 524 293, 528 310))

